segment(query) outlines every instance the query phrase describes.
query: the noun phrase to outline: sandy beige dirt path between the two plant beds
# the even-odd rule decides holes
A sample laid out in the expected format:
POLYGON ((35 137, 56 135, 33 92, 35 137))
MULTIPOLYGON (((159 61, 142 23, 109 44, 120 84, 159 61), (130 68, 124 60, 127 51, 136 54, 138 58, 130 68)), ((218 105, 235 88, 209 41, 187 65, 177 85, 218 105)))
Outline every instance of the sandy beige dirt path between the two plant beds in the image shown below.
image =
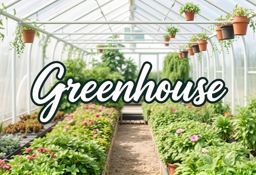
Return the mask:
POLYGON ((150 141, 148 125, 118 127, 109 175, 160 175, 160 163, 150 141))

